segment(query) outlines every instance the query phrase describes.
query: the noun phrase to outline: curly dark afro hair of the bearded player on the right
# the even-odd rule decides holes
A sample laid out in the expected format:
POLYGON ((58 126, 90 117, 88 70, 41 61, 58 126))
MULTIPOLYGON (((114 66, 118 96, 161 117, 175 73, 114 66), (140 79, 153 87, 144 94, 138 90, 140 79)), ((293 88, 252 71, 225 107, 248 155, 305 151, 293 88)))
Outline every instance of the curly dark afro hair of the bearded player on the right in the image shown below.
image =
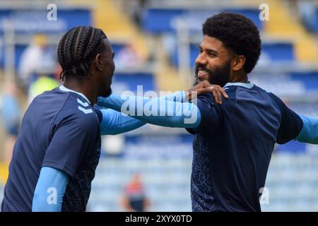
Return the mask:
POLYGON ((217 38, 235 54, 244 55, 246 73, 254 69, 261 54, 261 37, 252 20, 238 13, 218 13, 206 20, 203 34, 217 38))

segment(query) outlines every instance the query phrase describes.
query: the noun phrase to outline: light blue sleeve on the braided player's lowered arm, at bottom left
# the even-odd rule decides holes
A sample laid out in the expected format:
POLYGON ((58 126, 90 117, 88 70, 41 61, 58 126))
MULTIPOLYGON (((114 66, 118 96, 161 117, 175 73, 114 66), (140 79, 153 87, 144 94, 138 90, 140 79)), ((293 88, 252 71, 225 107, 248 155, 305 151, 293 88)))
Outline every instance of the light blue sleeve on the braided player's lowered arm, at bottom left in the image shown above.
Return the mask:
POLYGON ((60 169, 42 167, 32 201, 33 212, 61 212, 69 176, 60 169))

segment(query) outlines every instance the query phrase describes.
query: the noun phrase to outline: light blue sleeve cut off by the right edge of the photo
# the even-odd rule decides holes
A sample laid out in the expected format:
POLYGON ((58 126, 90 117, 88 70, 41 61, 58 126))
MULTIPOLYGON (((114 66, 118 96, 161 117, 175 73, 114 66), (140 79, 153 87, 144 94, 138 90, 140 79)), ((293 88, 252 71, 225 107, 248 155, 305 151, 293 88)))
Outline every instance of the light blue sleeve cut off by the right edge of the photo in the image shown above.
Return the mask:
POLYGON ((295 140, 305 143, 318 144, 318 119, 300 115, 303 126, 295 140))

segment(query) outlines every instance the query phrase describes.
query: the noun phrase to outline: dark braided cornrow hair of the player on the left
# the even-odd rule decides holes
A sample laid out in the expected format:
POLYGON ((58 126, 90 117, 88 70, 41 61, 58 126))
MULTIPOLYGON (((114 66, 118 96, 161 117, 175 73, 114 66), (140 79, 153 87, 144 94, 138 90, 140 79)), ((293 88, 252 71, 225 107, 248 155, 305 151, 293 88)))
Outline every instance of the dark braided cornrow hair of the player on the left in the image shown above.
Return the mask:
POLYGON ((66 32, 57 48, 57 59, 62 69, 59 78, 64 81, 66 76, 88 76, 94 57, 105 48, 103 38, 107 37, 102 30, 90 26, 78 26, 66 32))

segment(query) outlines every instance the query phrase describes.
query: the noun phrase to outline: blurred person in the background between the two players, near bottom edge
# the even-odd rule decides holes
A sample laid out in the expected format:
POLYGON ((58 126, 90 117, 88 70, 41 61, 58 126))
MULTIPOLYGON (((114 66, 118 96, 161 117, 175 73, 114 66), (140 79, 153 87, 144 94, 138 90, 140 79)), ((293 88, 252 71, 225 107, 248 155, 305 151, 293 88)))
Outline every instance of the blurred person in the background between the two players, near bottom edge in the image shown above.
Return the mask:
POLYGON ((124 211, 146 212, 150 205, 139 173, 134 174, 126 186, 120 203, 124 211))

